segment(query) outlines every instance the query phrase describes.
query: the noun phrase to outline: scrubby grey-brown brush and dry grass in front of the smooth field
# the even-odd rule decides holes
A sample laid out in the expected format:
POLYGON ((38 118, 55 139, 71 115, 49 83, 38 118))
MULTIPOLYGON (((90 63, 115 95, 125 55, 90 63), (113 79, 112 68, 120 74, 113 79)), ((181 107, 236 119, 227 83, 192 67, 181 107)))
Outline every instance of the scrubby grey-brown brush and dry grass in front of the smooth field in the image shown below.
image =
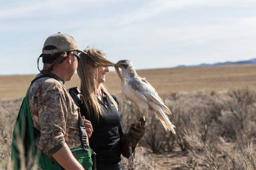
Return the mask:
MULTIPOLYGON (((255 93, 242 88, 224 93, 199 91, 163 96, 172 108, 177 134, 165 131, 154 114, 149 114, 146 134, 135 154, 135 169, 255 170, 255 93)), ((134 115, 138 111, 122 98, 119 103, 127 130, 136 121, 134 115)), ((0 100, 0 169, 8 166, 11 132, 20 104, 21 100, 0 100)), ((123 169, 126 167, 127 160, 123 159, 123 169)))

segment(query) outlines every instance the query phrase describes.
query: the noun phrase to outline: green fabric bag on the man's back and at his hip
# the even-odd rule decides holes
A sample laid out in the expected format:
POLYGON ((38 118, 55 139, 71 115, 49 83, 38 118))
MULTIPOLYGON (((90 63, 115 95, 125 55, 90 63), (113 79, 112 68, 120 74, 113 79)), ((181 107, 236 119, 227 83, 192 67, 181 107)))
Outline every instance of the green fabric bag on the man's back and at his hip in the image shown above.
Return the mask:
MULTIPOLYGON (((33 122, 28 103, 28 91, 23 100, 22 106, 19 109, 12 135, 11 159, 13 169, 18 170, 22 168, 22 166, 27 166, 25 167, 26 169, 31 169, 35 163, 38 164, 41 169, 45 170, 63 169, 56 161, 52 163, 48 156, 35 146, 33 122), (29 158, 29 160, 26 160, 26 157, 29 158)), ((90 147, 87 149, 88 152, 84 151, 82 146, 73 147, 70 148, 70 150, 78 162, 84 167, 84 169, 91 170, 93 162, 91 158, 92 151, 90 147)))

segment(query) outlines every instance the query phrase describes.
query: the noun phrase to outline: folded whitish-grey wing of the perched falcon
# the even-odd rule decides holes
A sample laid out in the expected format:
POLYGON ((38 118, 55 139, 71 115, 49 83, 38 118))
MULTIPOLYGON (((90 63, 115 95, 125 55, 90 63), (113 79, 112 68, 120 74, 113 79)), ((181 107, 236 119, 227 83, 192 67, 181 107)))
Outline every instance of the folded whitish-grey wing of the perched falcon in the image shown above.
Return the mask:
POLYGON ((150 83, 140 77, 133 78, 128 81, 128 85, 136 92, 137 95, 145 98, 147 101, 150 100, 164 108, 164 112, 172 114, 170 110, 165 106, 162 99, 158 95, 157 91, 150 83))

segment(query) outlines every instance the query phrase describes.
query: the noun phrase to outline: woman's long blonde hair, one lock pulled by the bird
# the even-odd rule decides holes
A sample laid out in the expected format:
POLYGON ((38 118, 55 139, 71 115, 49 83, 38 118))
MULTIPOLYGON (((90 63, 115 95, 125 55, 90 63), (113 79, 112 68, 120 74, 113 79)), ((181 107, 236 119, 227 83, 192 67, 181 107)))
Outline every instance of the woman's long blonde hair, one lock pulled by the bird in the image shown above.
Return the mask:
MULTIPOLYGON (((95 116, 98 119, 100 115, 102 115, 102 110, 97 99, 97 68, 114 66, 115 63, 106 59, 105 53, 95 48, 87 47, 84 52, 86 52, 87 55, 83 53, 80 54, 80 61, 77 66, 77 73, 81 80, 80 90, 84 98, 83 106, 86 111, 88 111, 89 115, 95 112, 95 116)), ((102 83, 100 84, 100 89, 118 109, 116 101, 102 83)))

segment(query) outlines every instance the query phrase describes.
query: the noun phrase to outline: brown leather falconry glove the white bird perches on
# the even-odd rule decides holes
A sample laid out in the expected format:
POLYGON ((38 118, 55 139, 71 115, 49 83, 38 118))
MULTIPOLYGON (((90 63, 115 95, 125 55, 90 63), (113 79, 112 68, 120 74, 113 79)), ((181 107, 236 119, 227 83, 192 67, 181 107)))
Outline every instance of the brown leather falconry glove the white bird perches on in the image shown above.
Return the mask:
POLYGON ((129 131, 125 133, 121 139, 121 153, 124 157, 129 158, 131 154, 134 153, 134 150, 140 141, 140 139, 145 134, 146 121, 143 118, 137 123, 133 123, 129 131))

